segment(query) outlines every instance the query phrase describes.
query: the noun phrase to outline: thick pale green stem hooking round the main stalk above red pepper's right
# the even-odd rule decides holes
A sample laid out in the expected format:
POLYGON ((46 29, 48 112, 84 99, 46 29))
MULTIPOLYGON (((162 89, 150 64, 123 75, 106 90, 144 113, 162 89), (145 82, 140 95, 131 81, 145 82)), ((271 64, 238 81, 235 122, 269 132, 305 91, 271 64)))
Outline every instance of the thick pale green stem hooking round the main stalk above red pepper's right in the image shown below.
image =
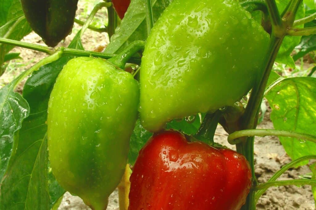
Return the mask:
POLYGON ((235 131, 234 133, 231 133, 228 136, 228 143, 232 145, 239 144, 240 139, 238 138, 246 136, 284 136, 316 143, 316 136, 305 133, 296 133, 293 131, 283 131, 274 129, 249 129, 235 131))

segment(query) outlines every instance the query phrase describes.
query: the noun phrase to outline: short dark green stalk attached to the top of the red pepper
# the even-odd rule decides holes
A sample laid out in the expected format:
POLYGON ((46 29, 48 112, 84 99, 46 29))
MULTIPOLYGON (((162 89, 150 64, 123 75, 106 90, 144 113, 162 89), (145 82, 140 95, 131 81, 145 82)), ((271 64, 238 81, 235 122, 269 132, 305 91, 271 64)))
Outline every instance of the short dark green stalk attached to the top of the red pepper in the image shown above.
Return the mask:
POLYGON ((219 110, 214 113, 206 114, 199 130, 194 135, 194 138, 208 142, 209 144, 214 143, 214 134, 221 115, 222 112, 219 110))

